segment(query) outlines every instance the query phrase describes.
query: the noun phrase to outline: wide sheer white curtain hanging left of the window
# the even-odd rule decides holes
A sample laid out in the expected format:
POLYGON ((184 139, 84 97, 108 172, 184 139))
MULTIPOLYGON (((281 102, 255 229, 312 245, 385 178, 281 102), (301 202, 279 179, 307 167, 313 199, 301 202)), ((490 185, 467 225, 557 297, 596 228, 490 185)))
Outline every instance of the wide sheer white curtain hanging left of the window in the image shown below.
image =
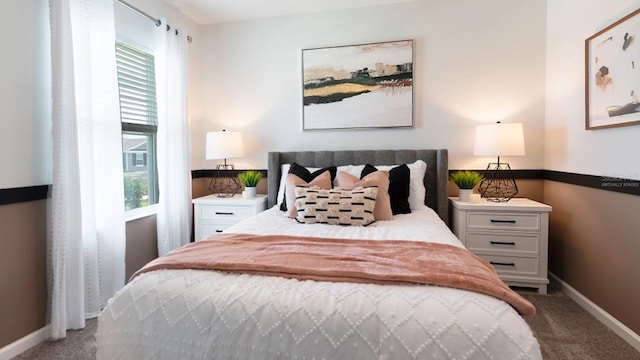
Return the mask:
POLYGON ((83 328, 124 285, 122 135, 113 0, 50 0, 53 339, 83 328))

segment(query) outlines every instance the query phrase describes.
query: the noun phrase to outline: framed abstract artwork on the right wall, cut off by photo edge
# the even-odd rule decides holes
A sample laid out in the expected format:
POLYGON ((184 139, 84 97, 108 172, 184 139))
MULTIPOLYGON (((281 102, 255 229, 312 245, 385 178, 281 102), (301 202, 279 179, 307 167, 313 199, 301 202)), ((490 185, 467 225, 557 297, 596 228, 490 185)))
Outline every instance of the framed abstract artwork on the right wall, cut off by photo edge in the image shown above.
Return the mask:
POLYGON ((585 129, 640 124, 640 9, 585 39, 585 129))

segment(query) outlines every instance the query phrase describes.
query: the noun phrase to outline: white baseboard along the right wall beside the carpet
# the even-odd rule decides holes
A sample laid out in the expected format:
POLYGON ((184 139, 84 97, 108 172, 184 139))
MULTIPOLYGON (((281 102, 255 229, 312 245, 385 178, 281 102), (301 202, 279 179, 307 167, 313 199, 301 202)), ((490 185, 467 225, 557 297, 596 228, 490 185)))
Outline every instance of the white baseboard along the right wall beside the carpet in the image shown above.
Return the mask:
POLYGON ((570 299, 578 303, 589 314, 593 315, 598 321, 603 323, 606 327, 611 329, 616 335, 623 338, 629 345, 633 346, 636 350, 640 351, 640 335, 633 332, 633 330, 626 327, 623 323, 604 311, 601 307, 593 303, 586 296, 582 295, 578 290, 571 287, 571 285, 564 282, 555 274, 549 272, 549 277, 553 281, 560 284, 562 292, 564 292, 570 299))

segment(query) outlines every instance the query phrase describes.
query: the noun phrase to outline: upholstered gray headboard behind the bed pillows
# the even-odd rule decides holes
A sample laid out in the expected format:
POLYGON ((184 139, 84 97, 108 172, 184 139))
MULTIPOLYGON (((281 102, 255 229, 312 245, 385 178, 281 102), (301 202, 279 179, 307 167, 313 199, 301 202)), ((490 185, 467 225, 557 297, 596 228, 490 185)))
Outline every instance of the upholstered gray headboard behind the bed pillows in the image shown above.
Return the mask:
POLYGON ((268 204, 272 207, 277 203, 282 164, 295 162, 307 167, 394 165, 409 164, 416 160, 427 163, 427 173, 424 177, 424 186, 427 189, 425 204, 435 210, 445 223, 448 223, 449 166, 446 149, 269 152, 268 204))

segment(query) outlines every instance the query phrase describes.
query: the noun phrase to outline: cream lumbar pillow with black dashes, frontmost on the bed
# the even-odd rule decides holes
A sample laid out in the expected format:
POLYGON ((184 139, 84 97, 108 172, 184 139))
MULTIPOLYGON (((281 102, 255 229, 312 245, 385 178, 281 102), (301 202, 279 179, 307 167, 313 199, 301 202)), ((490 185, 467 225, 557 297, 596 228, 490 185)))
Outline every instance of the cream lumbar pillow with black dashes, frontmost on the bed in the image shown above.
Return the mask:
POLYGON ((300 223, 367 226, 375 222, 373 209, 378 188, 357 187, 352 190, 323 190, 296 186, 296 220, 300 223))

